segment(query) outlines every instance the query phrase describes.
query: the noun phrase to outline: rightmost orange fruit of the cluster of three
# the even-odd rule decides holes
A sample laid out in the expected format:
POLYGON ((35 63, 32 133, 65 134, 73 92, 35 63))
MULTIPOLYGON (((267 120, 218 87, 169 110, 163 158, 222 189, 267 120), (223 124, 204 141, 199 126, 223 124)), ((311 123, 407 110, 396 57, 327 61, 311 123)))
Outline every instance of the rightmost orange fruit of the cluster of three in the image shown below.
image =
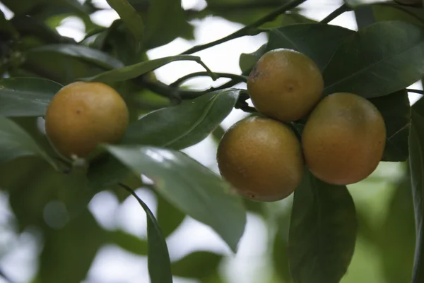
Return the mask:
POLYGON ((374 104, 344 92, 319 102, 302 134, 307 167, 318 179, 336 185, 369 176, 382 159, 385 143, 384 119, 374 104))

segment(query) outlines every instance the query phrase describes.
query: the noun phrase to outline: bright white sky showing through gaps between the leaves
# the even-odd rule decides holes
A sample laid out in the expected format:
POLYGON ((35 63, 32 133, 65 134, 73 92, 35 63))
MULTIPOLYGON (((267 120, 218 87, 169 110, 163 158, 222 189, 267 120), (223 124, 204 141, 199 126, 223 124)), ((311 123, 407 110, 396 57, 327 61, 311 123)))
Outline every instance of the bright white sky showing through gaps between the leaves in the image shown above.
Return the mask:
MULTIPOLYGON (((110 8, 105 0, 95 0, 94 3, 102 8, 110 8)), ((341 5, 341 0, 314 0, 302 4, 304 15, 322 20, 331 11, 341 5)), ((182 0, 183 8, 203 8, 206 6, 204 0, 182 0)), ((13 17, 13 13, 0 4, 0 9, 4 11, 7 18, 13 17)), ((112 9, 99 11, 93 14, 92 19, 99 25, 108 26, 118 15, 112 9)), ((220 37, 242 28, 242 25, 230 23, 228 20, 218 17, 208 17, 203 20, 194 20, 192 22, 196 27, 194 41, 177 39, 163 47, 153 49, 148 52, 151 59, 160 58, 178 54, 179 52, 193 47, 196 44, 202 44, 217 40, 220 37)), ((333 20, 331 24, 341 25, 345 28, 357 30, 353 12, 344 13, 342 16, 333 20)), ((61 35, 73 37, 81 40, 84 33, 82 21, 76 17, 66 18, 57 28, 61 35)), ((254 37, 242 37, 237 40, 220 44, 217 47, 206 49, 196 55, 212 71, 223 71, 226 73, 240 73, 238 66, 241 53, 249 53, 258 49, 261 44, 266 42, 265 35, 254 37)), ((194 71, 203 69, 194 62, 174 62, 163 66, 155 71, 156 75, 164 83, 172 83, 177 78, 194 71)), ((190 80, 189 85, 193 88, 208 88, 210 85, 219 85, 222 81, 213 83, 209 78, 198 78, 190 80)), ((243 86, 243 85, 242 85, 243 86)), ((413 85, 413 88, 422 89, 420 84, 413 85)), ((418 98, 418 95, 411 95, 411 102, 418 98)), ((241 119, 245 114, 240 110, 235 110, 223 122, 223 126, 228 128, 241 119)), ((210 138, 203 142, 184 150, 189 155, 198 159, 199 162, 217 171, 216 166, 216 145, 210 138)), ((139 190, 139 195, 155 212, 156 201, 153 195, 146 190, 139 190)), ((287 200, 290 201, 290 200, 287 200)), ((278 205, 285 205, 285 201, 278 205)), ((122 205, 119 205, 117 199, 107 191, 99 193, 90 203, 90 210, 95 215, 98 222, 105 229, 124 229, 131 234, 146 237, 146 215, 134 200, 128 198, 122 205)), ((10 218, 10 209, 7 204, 7 195, 0 195, 0 229, 4 228, 10 218)), ((16 282, 28 282, 36 272, 35 259, 37 258, 37 249, 35 243, 37 238, 24 233, 18 239, 14 239, 14 234, 8 231, 0 233, 0 247, 8 243, 8 249, 1 251, 0 254, 6 255, 0 260, 0 267, 16 282), (13 243, 10 245, 10 243, 13 243), (16 248, 18 247, 18 248, 16 248)), ((222 272, 230 279, 231 283, 257 283, 265 282, 266 276, 270 273, 269 262, 266 258, 267 233, 264 222, 256 215, 248 215, 247 227, 240 249, 237 255, 232 255, 225 246, 225 243, 209 227, 194 219, 187 217, 183 224, 167 239, 172 259, 182 258, 182 256, 195 250, 216 251, 225 253, 228 258, 222 265, 222 272)), ((147 260, 145 257, 133 255, 123 251, 117 246, 105 246, 98 253, 93 266, 90 269, 88 279, 85 283, 139 283, 148 282, 147 260)), ((176 279, 175 283, 194 283, 196 281, 176 279)), ((1 279, 0 279, 0 283, 1 279)))

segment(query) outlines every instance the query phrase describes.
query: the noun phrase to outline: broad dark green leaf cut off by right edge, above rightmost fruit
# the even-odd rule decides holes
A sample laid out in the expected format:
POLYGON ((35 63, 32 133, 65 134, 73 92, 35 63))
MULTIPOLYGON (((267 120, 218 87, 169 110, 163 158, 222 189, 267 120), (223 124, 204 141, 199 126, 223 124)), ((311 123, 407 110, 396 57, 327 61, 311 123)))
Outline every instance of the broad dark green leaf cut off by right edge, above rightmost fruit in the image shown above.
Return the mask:
POLYGON ((379 97, 424 76, 424 30, 400 21, 375 23, 346 40, 324 69, 324 95, 379 97))

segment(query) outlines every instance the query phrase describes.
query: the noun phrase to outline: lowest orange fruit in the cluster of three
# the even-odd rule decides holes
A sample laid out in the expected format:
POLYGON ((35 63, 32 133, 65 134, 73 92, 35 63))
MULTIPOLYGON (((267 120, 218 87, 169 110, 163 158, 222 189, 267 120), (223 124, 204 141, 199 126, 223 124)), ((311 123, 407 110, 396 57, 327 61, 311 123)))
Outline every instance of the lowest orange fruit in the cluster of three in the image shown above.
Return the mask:
POLYGON ((300 142, 285 124, 250 117, 234 124, 218 146, 220 174, 240 195, 276 201, 293 193, 302 179, 300 142))

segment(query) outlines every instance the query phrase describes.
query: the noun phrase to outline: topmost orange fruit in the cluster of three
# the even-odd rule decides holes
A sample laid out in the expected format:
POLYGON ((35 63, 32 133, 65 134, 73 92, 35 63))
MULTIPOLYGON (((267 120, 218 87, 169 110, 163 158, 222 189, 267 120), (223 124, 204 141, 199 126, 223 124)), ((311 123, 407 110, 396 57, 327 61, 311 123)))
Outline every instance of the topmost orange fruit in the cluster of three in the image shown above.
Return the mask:
POLYGON ((254 107, 280 121, 296 121, 319 102, 324 80, 314 61, 291 49, 266 52, 247 80, 254 107))

